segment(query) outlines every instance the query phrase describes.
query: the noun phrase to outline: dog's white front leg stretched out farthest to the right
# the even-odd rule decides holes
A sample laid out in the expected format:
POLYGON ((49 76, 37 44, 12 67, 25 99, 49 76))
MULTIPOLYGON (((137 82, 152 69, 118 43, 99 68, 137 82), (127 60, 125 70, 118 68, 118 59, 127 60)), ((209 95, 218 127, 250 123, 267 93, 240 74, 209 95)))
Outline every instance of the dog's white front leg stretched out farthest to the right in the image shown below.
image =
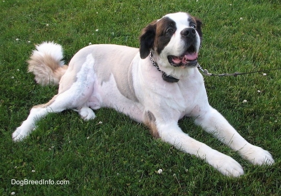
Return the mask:
POLYGON ((209 111, 198 116, 195 122, 231 149, 238 151, 244 159, 249 160, 251 163, 257 165, 271 165, 274 163, 268 151, 247 142, 214 108, 210 107, 209 111))

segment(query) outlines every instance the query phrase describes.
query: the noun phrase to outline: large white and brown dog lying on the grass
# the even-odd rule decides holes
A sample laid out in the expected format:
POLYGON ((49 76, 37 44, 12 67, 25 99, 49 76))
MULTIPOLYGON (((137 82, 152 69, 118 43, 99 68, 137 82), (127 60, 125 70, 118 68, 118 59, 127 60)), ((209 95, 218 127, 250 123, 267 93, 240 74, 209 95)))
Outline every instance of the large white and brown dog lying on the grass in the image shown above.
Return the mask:
POLYGON ((28 70, 41 85, 59 84, 58 94, 48 103, 34 106, 12 139, 26 138, 36 121, 48 113, 73 109, 90 120, 96 117, 93 110, 107 107, 144 123, 154 137, 205 160, 225 176, 243 175, 242 166, 185 134, 179 119, 193 117, 195 124, 255 165, 273 164, 268 151, 247 142, 209 105, 197 68, 201 27, 201 20, 189 13, 167 14, 142 30, 139 48, 89 45, 68 66, 62 61, 61 45, 36 45, 28 70))

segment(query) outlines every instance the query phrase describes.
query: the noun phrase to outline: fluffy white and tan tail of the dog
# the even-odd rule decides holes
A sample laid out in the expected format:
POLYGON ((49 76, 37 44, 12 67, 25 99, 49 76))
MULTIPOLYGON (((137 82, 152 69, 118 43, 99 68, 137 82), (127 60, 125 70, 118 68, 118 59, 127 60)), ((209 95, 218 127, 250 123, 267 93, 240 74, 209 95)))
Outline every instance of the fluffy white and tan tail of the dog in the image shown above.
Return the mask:
POLYGON ((67 65, 62 60, 62 47, 54 42, 43 42, 36 45, 27 61, 28 72, 33 72, 35 81, 41 85, 58 85, 64 75, 67 65))

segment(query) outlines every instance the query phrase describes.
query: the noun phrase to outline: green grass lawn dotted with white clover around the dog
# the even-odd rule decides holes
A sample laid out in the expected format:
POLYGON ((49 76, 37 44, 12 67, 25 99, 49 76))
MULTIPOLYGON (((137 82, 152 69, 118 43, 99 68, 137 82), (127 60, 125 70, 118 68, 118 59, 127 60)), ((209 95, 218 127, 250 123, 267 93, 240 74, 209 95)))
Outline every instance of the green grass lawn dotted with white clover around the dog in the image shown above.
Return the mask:
POLYGON ((245 175, 226 178, 205 162, 153 139, 143 125, 110 109, 84 122, 76 112, 50 114, 26 140, 11 134, 33 105, 56 87, 27 74, 34 44, 54 40, 65 61, 91 43, 138 47, 140 30, 170 12, 203 20, 199 62, 209 72, 281 66, 281 6, 276 1, 29 1, 0 2, 0 194, 10 195, 278 195, 281 191, 281 72, 205 77, 210 104, 252 144, 275 158, 253 166, 186 118, 192 137, 240 162, 245 175), (261 92, 257 92, 260 90, 261 92), (247 103, 242 103, 247 100, 247 103), (102 124, 99 124, 102 121, 102 124), (158 169, 163 169, 161 175, 158 169), (68 185, 12 185, 11 180, 68 180, 68 185))

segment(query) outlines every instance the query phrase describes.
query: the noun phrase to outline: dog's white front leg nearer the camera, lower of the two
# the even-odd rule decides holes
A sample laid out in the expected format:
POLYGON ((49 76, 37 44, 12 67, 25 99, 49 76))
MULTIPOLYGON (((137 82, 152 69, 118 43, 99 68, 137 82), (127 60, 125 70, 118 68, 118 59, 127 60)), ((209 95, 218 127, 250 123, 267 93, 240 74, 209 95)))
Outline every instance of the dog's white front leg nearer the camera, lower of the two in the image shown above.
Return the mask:
POLYGON ((183 133, 176 122, 157 124, 157 130, 159 137, 163 141, 174 145, 177 149, 185 153, 204 159, 223 175, 230 177, 243 175, 243 168, 237 161, 183 133))

